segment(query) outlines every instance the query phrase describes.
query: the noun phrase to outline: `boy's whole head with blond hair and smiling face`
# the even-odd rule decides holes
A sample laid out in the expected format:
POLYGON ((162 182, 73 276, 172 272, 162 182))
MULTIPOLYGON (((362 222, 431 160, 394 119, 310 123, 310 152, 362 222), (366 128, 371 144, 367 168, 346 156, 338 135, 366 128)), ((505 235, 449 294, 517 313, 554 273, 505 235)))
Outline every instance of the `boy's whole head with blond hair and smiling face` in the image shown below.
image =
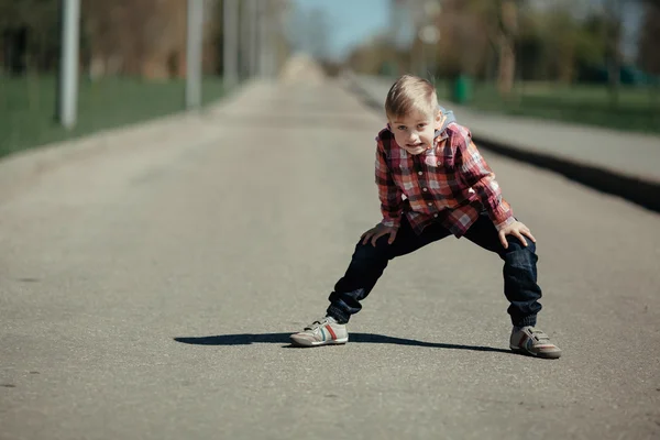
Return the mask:
POLYGON ((433 145, 440 128, 436 88, 426 79, 404 75, 389 89, 385 113, 396 143, 410 154, 420 154, 433 145))

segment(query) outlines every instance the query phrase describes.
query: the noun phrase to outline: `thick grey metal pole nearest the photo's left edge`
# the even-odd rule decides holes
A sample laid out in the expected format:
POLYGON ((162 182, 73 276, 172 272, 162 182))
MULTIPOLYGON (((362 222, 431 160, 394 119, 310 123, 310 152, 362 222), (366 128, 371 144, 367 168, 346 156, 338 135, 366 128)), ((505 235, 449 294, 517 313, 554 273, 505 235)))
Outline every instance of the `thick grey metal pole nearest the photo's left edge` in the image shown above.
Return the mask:
POLYGON ((78 54, 80 0, 62 2, 62 61, 59 65, 59 122, 66 129, 76 125, 78 111, 78 54))

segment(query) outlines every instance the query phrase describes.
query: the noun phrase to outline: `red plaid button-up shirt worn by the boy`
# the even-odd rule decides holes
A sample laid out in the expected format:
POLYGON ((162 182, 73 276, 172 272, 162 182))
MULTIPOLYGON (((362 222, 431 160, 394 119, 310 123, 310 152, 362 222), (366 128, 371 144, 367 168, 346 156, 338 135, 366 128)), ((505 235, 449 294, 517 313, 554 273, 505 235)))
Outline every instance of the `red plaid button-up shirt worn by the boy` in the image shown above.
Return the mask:
POLYGON ((461 237, 484 208, 497 230, 515 221, 466 128, 450 123, 437 133, 433 147, 418 155, 402 148, 388 129, 381 131, 376 141, 382 224, 398 228, 406 215, 418 234, 439 221, 461 237))

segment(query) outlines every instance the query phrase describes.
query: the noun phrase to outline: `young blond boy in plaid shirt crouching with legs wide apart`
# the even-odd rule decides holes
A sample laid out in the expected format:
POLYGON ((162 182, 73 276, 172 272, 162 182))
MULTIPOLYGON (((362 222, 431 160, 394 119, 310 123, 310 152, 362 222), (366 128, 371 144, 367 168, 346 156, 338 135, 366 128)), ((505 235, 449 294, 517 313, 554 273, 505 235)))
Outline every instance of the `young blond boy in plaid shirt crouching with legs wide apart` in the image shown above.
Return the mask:
POLYGON ((512 350, 557 359, 561 350, 535 328, 536 239, 514 218, 470 131, 439 108, 435 87, 400 77, 385 101, 387 128, 376 138, 376 184, 383 220, 358 242, 324 318, 293 334, 300 346, 345 343, 345 324, 360 311, 389 260, 451 234, 504 260, 504 294, 513 322, 512 350))

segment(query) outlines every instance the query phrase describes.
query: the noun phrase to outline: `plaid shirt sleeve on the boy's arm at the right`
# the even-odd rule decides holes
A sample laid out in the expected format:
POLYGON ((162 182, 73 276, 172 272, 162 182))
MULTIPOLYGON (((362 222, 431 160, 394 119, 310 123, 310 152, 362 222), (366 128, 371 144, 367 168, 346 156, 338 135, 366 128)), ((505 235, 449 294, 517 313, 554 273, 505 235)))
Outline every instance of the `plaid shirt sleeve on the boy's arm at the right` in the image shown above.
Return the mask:
POLYGON ((457 167, 460 178, 474 189, 497 231, 516 221, 509 204, 502 198, 495 174, 472 141, 470 132, 460 135, 457 145, 457 167))

